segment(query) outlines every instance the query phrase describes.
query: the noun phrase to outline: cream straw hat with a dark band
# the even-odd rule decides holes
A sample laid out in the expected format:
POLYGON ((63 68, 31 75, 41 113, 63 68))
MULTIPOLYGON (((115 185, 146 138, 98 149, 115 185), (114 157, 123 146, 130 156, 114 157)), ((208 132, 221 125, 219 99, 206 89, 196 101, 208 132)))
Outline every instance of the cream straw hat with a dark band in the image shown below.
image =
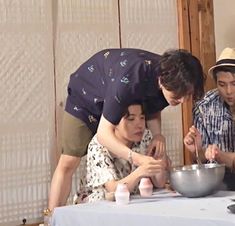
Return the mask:
POLYGON ((216 64, 209 69, 208 73, 213 76, 214 69, 221 66, 235 67, 235 48, 225 48, 220 54, 216 64))

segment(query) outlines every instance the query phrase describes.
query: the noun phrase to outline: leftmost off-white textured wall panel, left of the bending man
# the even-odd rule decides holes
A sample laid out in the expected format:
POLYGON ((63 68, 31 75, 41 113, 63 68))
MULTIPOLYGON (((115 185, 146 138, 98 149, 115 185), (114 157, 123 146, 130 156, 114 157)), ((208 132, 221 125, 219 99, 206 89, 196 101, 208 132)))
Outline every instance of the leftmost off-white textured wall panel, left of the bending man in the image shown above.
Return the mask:
POLYGON ((1 0, 0 31, 0 224, 9 226, 39 218, 47 202, 55 136, 51 1, 1 0))

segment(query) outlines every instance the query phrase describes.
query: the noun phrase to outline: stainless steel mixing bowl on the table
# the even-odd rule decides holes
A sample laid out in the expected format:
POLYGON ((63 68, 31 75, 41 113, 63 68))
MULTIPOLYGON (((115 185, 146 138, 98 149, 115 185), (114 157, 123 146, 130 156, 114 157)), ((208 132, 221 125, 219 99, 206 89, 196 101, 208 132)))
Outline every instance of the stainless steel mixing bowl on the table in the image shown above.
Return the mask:
POLYGON ((170 171, 172 188, 186 197, 203 197, 222 184, 225 165, 217 163, 174 167, 170 171))

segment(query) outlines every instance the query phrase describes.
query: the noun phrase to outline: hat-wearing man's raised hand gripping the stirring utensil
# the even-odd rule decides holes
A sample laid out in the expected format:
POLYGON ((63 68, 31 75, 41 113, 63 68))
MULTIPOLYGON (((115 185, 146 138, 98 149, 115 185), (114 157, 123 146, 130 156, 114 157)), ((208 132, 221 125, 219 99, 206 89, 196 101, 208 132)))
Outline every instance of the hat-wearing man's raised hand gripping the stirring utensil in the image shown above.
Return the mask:
POLYGON ((189 132, 184 137, 184 144, 186 148, 193 153, 195 152, 195 142, 198 149, 201 149, 202 148, 201 134, 199 133, 199 131, 195 126, 191 126, 189 128, 189 132))

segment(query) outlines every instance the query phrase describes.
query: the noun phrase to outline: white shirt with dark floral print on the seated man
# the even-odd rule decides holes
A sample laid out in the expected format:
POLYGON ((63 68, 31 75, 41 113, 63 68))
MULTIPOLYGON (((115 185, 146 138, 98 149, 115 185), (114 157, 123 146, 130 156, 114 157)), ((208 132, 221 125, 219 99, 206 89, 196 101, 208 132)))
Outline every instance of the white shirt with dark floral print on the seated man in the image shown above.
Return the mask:
MULTIPOLYGON (((142 141, 134 143, 132 151, 145 154, 152 140, 150 130, 145 130, 142 141)), ((80 181, 74 203, 94 202, 105 199, 104 184, 111 180, 120 180, 128 176, 135 167, 124 159, 116 158, 102 146, 96 135, 92 138, 85 161, 80 165, 80 181)), ((135 189, 135 192, 137 189, 135 189)), ((135 193, 134 192, 134 193, 135 193)))

